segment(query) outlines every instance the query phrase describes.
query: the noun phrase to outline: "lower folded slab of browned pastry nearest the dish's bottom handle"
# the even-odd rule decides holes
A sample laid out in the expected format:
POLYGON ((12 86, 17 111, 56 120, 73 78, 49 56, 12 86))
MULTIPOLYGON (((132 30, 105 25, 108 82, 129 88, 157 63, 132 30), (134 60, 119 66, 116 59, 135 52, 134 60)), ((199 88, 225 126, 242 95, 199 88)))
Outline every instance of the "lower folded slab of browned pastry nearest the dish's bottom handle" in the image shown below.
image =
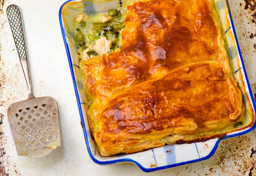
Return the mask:
POLYGON ((97 144, 150 135, 193 134, 221 129, 241 114, 241 93, 218 62, 193 63, 160 79, 111 97, 100 113, 97 144))

